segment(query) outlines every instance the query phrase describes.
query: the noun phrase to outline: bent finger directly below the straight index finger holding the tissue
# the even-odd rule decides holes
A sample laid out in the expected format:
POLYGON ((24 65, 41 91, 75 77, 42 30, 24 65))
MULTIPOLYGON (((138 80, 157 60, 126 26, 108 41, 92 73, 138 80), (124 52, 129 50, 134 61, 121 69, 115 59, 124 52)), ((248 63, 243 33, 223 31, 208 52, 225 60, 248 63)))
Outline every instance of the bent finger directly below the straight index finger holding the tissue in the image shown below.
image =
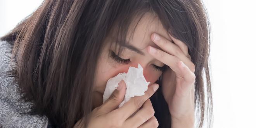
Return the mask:
POLYGON ((145 123, 152 116, 154 116, 154 114, 155 111, 153 109, 151 101, 150 99, 147 99, 146 102, 143 104, 142 108, 138 112, 136 112, 134 116, 128 118, 125 123, 130 128, 138 128, 138 126, 145 123))

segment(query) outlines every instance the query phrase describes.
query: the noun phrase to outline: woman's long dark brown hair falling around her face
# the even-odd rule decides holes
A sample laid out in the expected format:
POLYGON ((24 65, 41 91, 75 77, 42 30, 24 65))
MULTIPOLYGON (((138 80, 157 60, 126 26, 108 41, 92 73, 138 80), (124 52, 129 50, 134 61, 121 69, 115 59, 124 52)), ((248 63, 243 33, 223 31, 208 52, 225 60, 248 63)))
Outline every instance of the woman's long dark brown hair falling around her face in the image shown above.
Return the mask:
MULTIPOLYGON (((34 104, 29 114, 46 115, 58 127, 71 128, 82 117, 87 124, 95 68, 106 37, 117 28, 112 32, 125 41, 131 22, 146 12, 157 16, 166 31, 188 46, 195 64, 198 127, 211 126, 210 27, 201 0, 43 1, 1 38, 14 45, 11 74, 22 99, 34 104)), ((150 99, 159 127, 170 128, 161 88, 150 99)))

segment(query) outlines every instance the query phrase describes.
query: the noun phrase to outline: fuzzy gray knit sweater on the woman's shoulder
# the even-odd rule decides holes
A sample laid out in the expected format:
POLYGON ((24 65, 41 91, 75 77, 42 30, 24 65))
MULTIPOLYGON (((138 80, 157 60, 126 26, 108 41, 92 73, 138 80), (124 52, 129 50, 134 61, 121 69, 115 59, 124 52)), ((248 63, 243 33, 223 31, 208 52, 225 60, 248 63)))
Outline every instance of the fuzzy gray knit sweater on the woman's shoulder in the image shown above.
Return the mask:
POLYGON ((19 101, 19 86, 5 73, 11 66, 11 52, 12 45, 0 41, 0 128, 47 128, 46 116, 22 114, 30 111, 32 104, 19 101))

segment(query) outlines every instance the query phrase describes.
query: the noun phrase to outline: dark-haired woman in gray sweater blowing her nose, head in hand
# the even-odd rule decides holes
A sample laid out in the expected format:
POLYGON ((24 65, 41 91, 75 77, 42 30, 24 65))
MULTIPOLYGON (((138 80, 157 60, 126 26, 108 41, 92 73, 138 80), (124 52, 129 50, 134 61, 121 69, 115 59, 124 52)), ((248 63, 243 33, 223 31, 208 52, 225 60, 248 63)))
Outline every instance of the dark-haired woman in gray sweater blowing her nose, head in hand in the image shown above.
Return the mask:
MULTIPOLYGON (((200 0, 45 0, 1 40, 21 96, 5 97, 3 87, 12 87, 3 82, 1 104, 23 104, 13 115, 26 126, 192 128, 197 118, 198 127, 211 125, 209 23, 200 0), (102 104, 107 80, 138 63, 152 83, 145 95, 117 108, 121 81, 102 104)), ((9 118, 1 117, 4 125, 9 118)))

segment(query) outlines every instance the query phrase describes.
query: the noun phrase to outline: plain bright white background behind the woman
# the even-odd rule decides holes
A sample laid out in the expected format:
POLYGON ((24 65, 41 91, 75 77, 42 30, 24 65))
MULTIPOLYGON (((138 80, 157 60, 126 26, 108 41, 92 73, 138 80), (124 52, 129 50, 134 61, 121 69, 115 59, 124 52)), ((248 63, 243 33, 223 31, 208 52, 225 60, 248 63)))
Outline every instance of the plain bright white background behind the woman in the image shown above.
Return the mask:
MULTIPOLYGON (((42 0, 0 0, 0 36, 42 0)), ((256 128, 256 4, 204 0, 211 20, 214 128, 256 128)))

